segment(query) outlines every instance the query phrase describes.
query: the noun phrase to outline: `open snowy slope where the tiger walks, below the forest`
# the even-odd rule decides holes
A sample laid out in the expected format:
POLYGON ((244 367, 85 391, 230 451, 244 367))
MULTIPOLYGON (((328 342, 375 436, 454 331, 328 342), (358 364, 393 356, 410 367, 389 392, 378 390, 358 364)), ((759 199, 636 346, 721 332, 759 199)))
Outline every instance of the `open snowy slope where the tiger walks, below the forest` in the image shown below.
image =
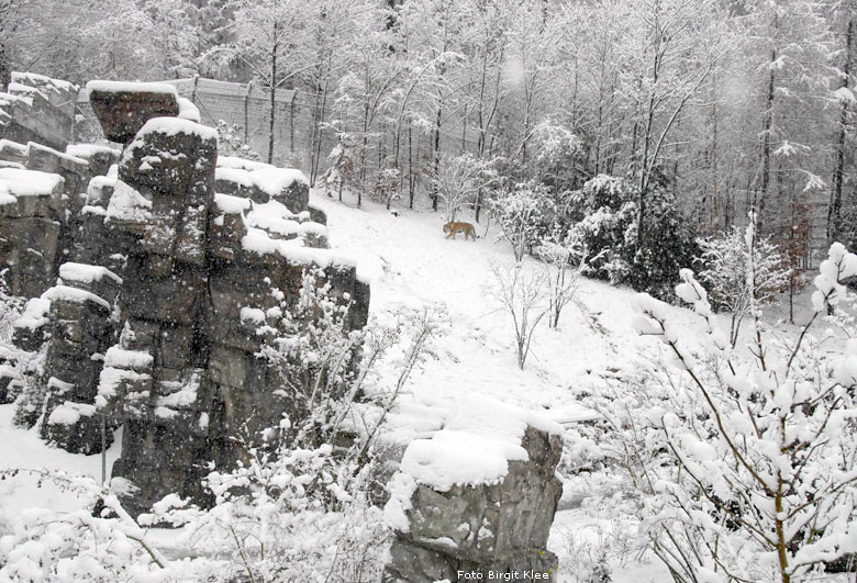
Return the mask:
MULTIPOLYGON (((450 328, 442 350, 412 379, 415 395, 488 394, 510 404, 548 410, 554 421, 589 416, 568 388, 591 382, 599 372, 622 369, 641 339, 631 328, 632 290, 581 280, 579 302, 563 312, 558 330, 543 321, 525 370, 515 363, 511 317, 487 292, 494 265, 510 265, 512 253, 494 243, 493 231, 476 242, 445 239, 442 213, 401 212, 381 206, 353 209, 313 191, 311 202, 327 213, 331 245, 357 260, 371 282, 370 313, 379 316, 439 304, 450 328)), ((464 220, 467 220, 466 217, 464 220)), ((527 258, 527 269, 539 265, 527 258)))

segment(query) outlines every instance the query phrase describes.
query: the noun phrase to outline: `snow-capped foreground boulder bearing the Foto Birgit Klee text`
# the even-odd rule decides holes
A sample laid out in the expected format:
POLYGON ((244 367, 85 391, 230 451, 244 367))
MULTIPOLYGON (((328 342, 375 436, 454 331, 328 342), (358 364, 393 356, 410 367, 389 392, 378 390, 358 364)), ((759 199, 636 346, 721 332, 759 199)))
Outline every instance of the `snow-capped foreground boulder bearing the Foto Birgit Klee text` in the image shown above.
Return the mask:
POLYGON ((561 427, 487 397, 453 405, 391 481, 386 583, 556 581, 546 550, 561 427))

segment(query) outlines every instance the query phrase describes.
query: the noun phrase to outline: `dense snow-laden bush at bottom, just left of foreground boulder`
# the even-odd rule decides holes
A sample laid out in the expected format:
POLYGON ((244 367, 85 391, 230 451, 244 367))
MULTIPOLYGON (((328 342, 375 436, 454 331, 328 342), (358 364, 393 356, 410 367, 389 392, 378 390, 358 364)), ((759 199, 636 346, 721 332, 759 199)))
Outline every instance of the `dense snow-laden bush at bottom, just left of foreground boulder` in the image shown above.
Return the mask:
MULTIPOLYGON (((168 496, 141 524, 182 526, 174 541, 220 564, 216 581, 369 583, 380 576, 390 531, 367 497, 371 467, 343 463, 331 445, 252 449, 249 460, 205 480, 208 511, 168 496)), ((178 570, 177 570, 178 571, 178 570)))

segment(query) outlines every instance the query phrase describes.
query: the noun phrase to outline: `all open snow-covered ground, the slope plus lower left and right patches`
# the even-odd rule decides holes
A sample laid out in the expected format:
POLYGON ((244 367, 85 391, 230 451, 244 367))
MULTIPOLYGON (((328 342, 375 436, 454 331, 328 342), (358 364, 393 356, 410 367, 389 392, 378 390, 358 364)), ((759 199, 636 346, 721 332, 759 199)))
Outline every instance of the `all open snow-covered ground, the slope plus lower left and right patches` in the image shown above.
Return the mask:
MULTIPOLYGON (((582 280, 559 328, 548 329, 546 319, 539 324, 522 371, 516 366, 511 318, 488 293, 494 280, 492 268, 513 260, 509 246, 496 243, 492 232, 486 234, 478 226, 476 242, 460 236, 446 239, 441 213, 400 211, 394 216, 370 202, 356 209, 348 200, 340 203, 316 191, 311 201, 327 213, 331 246, 356 259, 360 276, 370 281, 374 316, 383 321, 436 309, 446 321, 430 358, 412 375, 407 400, 436 403, 455 402, 466 394, 490 395, 574 424, 592 413, 576 403, 571 389, 633 367, 636 347, 644 340, 631 326, 631 290, 582 280)), ((531 259, 525 264, 527 269, 538 268, 531 259)), ((45 446, 34 430, 12 425, 12 405, 0 406, 0 468, 49 467, 100 475, 100 456, 74 456, 45 446)), ((118 442, 108 452, 108 472, 119 455, 118 442)), ((0 482, 0 532, 23 507, 75 505, 70 494, 53 486, 36 487, 36 478, 0 482)), ((569 500, 561 506, 565 509, 557 514, 549 540, 549 548, 560 557, 560 581, 576 581, 563 573, 572 572, 587 557, 591 561, 604 541, 622 548, 623 540, 633 536, 628 525, 615 524, 606 512, 602 516, 569 500)), ((614 557, 612 569, 615 583, 669 579, 657 561, 631 551, 614 557)))

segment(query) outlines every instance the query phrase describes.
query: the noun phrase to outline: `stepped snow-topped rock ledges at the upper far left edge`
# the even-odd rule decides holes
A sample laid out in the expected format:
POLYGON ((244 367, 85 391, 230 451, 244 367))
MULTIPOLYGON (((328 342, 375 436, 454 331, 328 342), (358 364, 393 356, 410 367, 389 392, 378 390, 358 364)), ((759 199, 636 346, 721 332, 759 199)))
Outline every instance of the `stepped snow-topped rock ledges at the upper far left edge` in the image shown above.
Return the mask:
POLYGON ((9 91, 0 94, 0 269, 10 293, 36 298, 54 285, 59 264, 75 260, 88 184, 119 150, 67 147, 76 86, 13 72, 9 91))

